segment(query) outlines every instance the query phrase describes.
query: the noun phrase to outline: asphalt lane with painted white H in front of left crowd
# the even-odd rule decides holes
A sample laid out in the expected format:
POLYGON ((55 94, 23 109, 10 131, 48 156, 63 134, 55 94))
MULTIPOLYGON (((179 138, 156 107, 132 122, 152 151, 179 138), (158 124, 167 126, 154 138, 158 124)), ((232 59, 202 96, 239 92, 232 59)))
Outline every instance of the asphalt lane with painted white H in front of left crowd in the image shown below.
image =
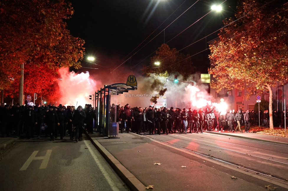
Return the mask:
POLYGON ((16 142, 1 157, 0 190, 130 190, 87 138, 66 138, 16 142))

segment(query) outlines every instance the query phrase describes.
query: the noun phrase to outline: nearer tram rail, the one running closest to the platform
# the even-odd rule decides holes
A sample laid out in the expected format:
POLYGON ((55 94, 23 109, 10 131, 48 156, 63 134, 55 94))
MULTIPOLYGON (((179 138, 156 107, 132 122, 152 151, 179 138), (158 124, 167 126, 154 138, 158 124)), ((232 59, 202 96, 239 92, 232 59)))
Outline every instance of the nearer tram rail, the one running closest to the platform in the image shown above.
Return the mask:
POLYGON ((236 167, 241 167, 241 168, 243 168, 243 169, 246 169, 246 170, 250 170, 250 171, 252 171, 252 172, 255 172, 256 174, 258 173, 258 174, 261 174, 261 175, 265 175, 265 176, 268 176, 268 177, 275 178, 275 179, 277 179, 277 180, 282 180, 282 181, 284 181, 284 182, 287 182, 287 179, 285 179, 285 178, 276 177, 276 176, 270 175, 270 174, 268 174, 268 173, 266 173, 266 172, 260 172, 260 171, 258 171, 258 170, 253 170, 253 169, 251 169, 251 168, 244 167, 243 165, 238 165, 238 164, 236 164, 236 163, 232 163, 232 162, 225 161, 225 160, 222 160, 222 159, 219 159, 219 158, 215 158, 215 157, 213 157, 213 156, 206 155, 206 154, 204 154, 204 153, 199 153, 199 152, 196 152, 196 151, 194 151, 194 150, 190 150, 190 149, 187 149, 187 148, 178 146, 178 145, 174 145, 174 144, 172 144, 172 143, 167 143, 167 142, 165 142, 165 141, 163 141, 163 140, 160 140, 160 139, 157 139, 157 138, 152 138, 152 137, 149 137, 149 136, 147 136, 147 135, 142 135, 142 136, 143 136, 143 137, 146 137, 146 138, 148 138, 148 139, 157 140, 157 141, 159 141, 159 142, 161 142, 161 143, 165 143, 165 144, 167 144, 167 145, 171 145, 171 146, 176 147, 176 148, 180 148, 180 149, 183 149, 183 150, 187 150, 187 151, 189 151, 189 152, 192 152, 192 153, 195 153, 195 154, 198 154, 198 155, 202 155, 202 156, 207 157, 207 158, 215 159, 215 160, 218 160, 218 161, 220 161, 220 162, 225 162, 225 163, 227 163, 227 164, 230 164, 230 165, 233 165, 233 166, 236 166, 236 167))

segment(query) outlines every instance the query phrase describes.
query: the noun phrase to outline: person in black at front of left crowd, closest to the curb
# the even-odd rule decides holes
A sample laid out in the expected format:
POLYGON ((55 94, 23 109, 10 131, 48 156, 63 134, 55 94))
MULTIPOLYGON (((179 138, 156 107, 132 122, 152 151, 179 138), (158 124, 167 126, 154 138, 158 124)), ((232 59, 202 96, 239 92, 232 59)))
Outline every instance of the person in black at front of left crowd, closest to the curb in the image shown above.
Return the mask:
POLYGON ((75 126, 76 142, 78 142, 78 140, 81 140, 85 118, 86 113, 84 110, 82 110, 82 106, 79 105, 78 109, 75 110, 75 113, 73 115, 73 125, 75 126))

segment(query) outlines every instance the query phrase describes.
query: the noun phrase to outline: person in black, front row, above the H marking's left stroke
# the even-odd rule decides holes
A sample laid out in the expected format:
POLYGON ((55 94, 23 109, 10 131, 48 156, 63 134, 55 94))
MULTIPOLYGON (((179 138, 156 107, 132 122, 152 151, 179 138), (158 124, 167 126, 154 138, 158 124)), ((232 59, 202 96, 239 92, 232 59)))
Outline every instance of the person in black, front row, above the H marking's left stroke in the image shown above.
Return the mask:
POLYGON ((34 128, 37 125, 37 113, 32 109, 31 105, 28 106, 28 110, 24 113, 24 119, 27 130, 27 139, 34 137, 34 128))

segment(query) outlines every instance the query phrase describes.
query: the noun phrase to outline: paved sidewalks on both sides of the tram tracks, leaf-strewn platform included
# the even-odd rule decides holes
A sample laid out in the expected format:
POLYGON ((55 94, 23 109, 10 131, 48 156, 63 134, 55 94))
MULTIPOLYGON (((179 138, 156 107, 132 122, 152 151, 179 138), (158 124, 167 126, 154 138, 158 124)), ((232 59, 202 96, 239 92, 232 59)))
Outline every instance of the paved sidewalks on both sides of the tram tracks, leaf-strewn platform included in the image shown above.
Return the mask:
MULTIPOLYGON (((205 133, 288 144, 288 138, 256 133, 205 133)), ((244 191, 259 190, 262 184, 269 181, 288 189, 287 185, 273 182, 253 172, 159 143, 153 140, 154 135, 151 138, 135 133, 119 133, 120 138, 103 138, 98 133, 87 136, 131 190, 143 191, 146 186, 154 185, 154 190, 244 191), (233 180, 232 176, 238 179, 233 180)))

